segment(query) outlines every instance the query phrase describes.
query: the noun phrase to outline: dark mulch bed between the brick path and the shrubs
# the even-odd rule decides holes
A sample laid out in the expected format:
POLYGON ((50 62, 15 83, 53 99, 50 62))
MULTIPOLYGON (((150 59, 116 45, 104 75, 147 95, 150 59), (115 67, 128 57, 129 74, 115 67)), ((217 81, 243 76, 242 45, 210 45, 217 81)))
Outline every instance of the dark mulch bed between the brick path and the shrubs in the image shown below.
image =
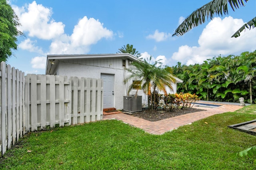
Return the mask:
POLYGON ((176 109, 174 111, 157 111, 157 110, 144 110, 136 113, 126 113, 131 116, 139 117, 151 122, 160 121, 163 119, 167 119, 170 117, 176 117, 180 115, 185 115, 188 113, 194 113, 199 111, 205 111, 203 109, 196 108, 184 108, 184 109, 176 109))

